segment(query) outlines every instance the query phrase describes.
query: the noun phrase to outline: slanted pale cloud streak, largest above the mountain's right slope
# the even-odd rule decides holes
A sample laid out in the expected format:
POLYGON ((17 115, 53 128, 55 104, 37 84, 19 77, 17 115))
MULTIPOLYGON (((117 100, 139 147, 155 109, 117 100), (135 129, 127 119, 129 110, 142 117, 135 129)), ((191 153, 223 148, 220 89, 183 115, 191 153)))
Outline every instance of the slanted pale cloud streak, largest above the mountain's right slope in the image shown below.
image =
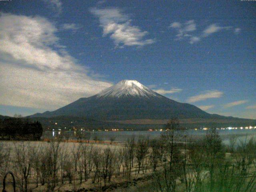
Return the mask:
POLYGON ((202 101, 210 98, 220 98, 223 95, 223 92, 218 91, 218 90, 207 90, 202 92, 199 95, 192 96, 188 98, 187 102, 197 102, 197 101, 202 101))

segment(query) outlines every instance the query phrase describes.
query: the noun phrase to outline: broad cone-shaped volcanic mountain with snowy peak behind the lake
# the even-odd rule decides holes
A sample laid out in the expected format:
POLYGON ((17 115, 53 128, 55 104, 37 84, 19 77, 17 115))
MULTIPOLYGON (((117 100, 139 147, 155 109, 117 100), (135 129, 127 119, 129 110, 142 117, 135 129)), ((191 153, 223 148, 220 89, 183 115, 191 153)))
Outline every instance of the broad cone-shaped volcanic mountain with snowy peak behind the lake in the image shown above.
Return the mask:
POLYGON ((58 110, 30 117, 54 116, 77 116, 95 120, 216 117, 194 105, 166 98, 136 80, 122 80, 94 96, 80 98, 58 110))

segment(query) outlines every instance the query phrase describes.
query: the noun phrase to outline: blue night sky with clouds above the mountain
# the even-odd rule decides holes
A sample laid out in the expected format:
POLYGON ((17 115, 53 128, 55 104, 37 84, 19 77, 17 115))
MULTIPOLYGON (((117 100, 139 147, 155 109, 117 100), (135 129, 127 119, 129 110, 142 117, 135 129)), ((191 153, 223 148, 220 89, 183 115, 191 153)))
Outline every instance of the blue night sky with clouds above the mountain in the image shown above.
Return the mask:
POLYGON ((0 11, 5 21, 2 23, 8 23, 8 30, 3 24, 1 29, 5 48, 15 44, 12 49, 18 50, 19 46, 32 52, 17 56, 15 51, 0 50, 2 69, 5 74, 10 73, 0 75, 6 79, 18 74, 16 82, 21 82, 12 85, 6 80, 0 85, 6 93, 2 96, 0 114, 28 115, 54 110, 120 80, 134 79, 160 94, 210 113, 256 118, 256 2, 12 0, 0 2, 0 11), (17 20, 20 22, 15 23, 17 20), (28 25, 32 34, 26 40, 20 40, 22 32, 28 34, 26 26, 19 26, 22 22, 33 23, 28 25), (33 33, 32 27, 37 25, 42 27, 39 35, 33 33), (48 33, 48 39, 44 40, 44 34, 48 33), (12 36, 19 39, 18 43, 12 41, 12 36), (31 40, 34 38, 41 43, 34 43, 31 40), (36 61, 38 54, 28 66, 31 54, 39 49, 59 56, 60 61, 49 61, 47 68, 53 68, 54 62, 59 64, 62 58, 70 59, 72 67, 64 70, 60 63, 61 67, 49 72, 40 68, 44 58, 36 61), (31 71, 24 72, 25 68, 31 71), (35 72, 36 68, 46 72, 48 78, 35 72), (74 81, 69 83, 71 88, 63 83, 60 95, 56 94, 58 86, 52 90, 42 88, 40 92, 33 87, 37 86, 34 83, 27 88, 27 83, 40 79, 48 82, 43 87, 52 86, 54 78, 49 76, 58 70, 64 70, 65 74, 54 84, 74 81), (85 75, 84 82, 81 73, 85 75), (26 75, 36 79, 22 83, 26 75), (83 92, 84 86, 88 89, 83 92), (13 87, 19 88, 20 97, 10 96, 15 94, 13 87), (24 94, 25 90, 31 94, 24 94), (61 95, 69 90, 72 94, 63 98, 61 95), (44 98, 35 99, 42 92, 46 92, 44 98), (55 105, 48 102, 55 101, 54 96, 55 105))

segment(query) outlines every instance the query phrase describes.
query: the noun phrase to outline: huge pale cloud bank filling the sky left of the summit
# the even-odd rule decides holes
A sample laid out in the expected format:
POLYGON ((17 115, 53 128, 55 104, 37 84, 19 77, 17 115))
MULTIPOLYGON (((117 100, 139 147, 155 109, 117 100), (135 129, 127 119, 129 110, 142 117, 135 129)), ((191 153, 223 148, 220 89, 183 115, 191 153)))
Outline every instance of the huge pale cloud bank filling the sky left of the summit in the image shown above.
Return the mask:
POLYGON ((0 104, 54 110, 112 85, 89 76, 56 32, 42 17, 0 15, 0 104))

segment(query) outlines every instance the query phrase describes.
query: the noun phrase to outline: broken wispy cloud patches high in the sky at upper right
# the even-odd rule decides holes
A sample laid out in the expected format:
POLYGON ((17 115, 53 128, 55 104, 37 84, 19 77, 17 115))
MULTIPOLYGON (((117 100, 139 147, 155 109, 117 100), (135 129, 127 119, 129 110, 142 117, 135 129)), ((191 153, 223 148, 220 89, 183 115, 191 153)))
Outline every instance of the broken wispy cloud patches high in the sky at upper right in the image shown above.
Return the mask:
MULTIPOLYGON (((174 40, 186 40, 190 44, 194 44, 213 33, 219 32, 221 30, 230 30, 232 29, 232 26, 219 26, 215 23, 206 27, 202 32, 196 32, 197 27, 195 21, 189 20, 184 23, 173 22, 170 24, 169 28, 173 28, 177 31, 174 40)), ((240 28, 236 28, 234 33, 238 34, 240 33, 240 30, 240 28)))

